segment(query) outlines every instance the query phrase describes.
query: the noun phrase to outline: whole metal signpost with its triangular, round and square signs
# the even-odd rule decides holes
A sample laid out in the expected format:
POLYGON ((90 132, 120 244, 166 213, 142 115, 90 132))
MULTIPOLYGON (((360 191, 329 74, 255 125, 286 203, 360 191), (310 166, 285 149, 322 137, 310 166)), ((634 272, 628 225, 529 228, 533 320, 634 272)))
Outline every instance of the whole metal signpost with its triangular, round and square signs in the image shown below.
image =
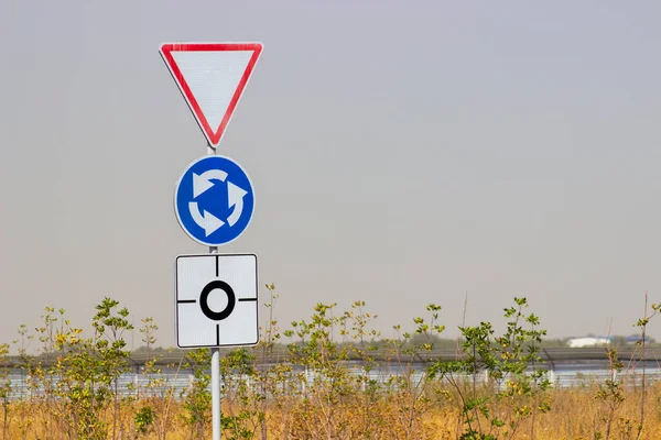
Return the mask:
POLYGON ((176 260, 175 321, 178 346, 210 346, 212 438, 220 440, 219 350, 257 344, 259 323, 257 255, 218 254, 219 245, 236 240, 250 223, 254 193, 240 165, 216 152, 262 44, 165 43, 159 52, 208 145, 207 156, 188 166, 175 190, 182 229, 209 249, 208 255, 176 260), (214 308, 218 302, 224 305, 220 310, 214 308))

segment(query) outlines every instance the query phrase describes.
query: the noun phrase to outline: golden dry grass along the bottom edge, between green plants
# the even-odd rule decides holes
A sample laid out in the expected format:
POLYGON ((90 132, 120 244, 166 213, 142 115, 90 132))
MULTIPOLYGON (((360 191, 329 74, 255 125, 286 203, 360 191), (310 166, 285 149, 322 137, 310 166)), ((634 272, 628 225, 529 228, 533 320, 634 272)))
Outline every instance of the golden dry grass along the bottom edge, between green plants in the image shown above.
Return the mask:
MULTIPOLYGON (((538 415, 534 438, 537 440, 587 440, 604 436, 608 418, 607 406, 595 398, 598 385, 552 391, 552 410, 538 415)), ((635 439, 640 421, 640 392, 627 389, 625 400, 613 414, 610 439, 635 439)), ((199 439, 210 437, 210 424, 203 431, 195 431, 181 417, 185 408, 172 402, 165 419, 165 405, 160 400, 123 403, 118 417, 116 439, 199 439), (136 432, 134 415, 140 407, 149 405, 155 410, 155 419, 145 435, 136 432), (165 422, 165 425, 163 425, 165 422), (164 436, 165 435, 165 436, 164 436)), ((224 415, 239 415, 245 409, 238 405, 224 405, 224 415)), ((661 439, 661 384, 651 385, 644 403, 644 427, 640 439, 661 439)), ((462 432, 458 409, 452 396, 427 402, 412 420, 407 419, 401 402, 389 398, 368 398, 362 395, 338 397, 332 405, 305 399, 279 399, 266 405, 266 425, 269 439, 457 439, 462 432), (333 415, 328 417, 327 410, 333 415), (328 422, 332 420, 332 422, 328 422), (411 428, 411 429, 408 429, 411 428)), ((63 408, 54 403, 21 402, 7 407, 4 422, 0 418, 0 438, 13 439, 65 439, 63 408)), ((110 422, 111 409, 99 417, 110 422)), ((257 417, 243 420, 243 427, 253 432, 254 439, 263 433, 257 417)), ((530 439, 530 419, 518 429, 516 439, 530 439)), ((109 433, 108 438, 112 438, 109 433)), ((224 431, 224 439, 237 438, 231 429, 224 431)), ((498 438, 503 437, 502 433, 498 438)), ((606 438, 606 437, 602 437, 606 438)))

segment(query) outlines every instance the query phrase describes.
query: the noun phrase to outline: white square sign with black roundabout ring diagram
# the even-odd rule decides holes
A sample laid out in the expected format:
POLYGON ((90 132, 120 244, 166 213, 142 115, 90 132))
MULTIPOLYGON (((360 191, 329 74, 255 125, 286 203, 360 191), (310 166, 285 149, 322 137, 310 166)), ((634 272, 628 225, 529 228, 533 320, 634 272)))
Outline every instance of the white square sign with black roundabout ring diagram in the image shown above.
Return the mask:
POLYGON ((180 255, 175 292, 180 348, 258 342, 257 255, 180 255))

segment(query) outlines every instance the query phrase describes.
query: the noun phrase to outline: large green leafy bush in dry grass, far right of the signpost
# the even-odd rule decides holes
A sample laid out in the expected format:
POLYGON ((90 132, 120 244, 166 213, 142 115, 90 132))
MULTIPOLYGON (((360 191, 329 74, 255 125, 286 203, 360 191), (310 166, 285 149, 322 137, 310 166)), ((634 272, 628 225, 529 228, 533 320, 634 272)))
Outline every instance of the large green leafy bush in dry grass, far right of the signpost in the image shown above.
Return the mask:
POLYGON ((431 375, 447 380, 458 396, 462 440, 513 439, 525 419, 551 409, 544 398, 551 383, 544 370, 534 367, 545 330, 539 330, 535 315, 524 314, 527 307, 525 298, 514 298, 503 310, 507 329, 500 337, 489 322, 460 327, 463 358, 429 369, 431 375), (479 375, 486 386, 478 386, 479 375))

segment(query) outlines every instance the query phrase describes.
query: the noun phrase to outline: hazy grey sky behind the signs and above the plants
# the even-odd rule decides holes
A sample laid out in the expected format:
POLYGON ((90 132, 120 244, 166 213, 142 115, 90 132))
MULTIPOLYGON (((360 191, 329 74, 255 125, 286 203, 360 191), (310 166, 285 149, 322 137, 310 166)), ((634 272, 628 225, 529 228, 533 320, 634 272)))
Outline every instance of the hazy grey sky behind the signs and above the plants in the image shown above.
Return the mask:
POLYGON ((631 334, 646 290, 661 301, 660 13, 2 1, 0 341, 46 306, 88 326, 111 297, 176 345, 174 261, 208 248, 173 195, 206 140, 158 51, 187 41, 264 45, 218 148, 249 173, 254 217, 219 252, 258 255, 282 329, 365 300, 391 337, 434 302, 455 338, 501 330, 525 297, 549 337, 631 334))

